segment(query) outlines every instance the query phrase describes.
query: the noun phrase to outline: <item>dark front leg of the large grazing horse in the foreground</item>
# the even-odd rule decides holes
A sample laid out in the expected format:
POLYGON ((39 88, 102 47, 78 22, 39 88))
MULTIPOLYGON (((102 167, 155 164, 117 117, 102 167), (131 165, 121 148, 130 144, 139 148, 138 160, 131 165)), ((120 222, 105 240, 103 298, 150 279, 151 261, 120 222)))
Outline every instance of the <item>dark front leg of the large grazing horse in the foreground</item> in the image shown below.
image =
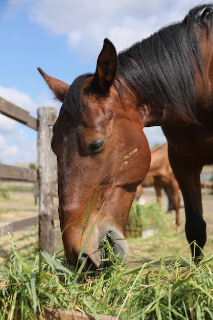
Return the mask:
POLYGON ((170 164, 181 189, 185 204, 185 233, 194 258, 201 257, 206 243, 206 223, 203 220, 200 173, 202 165, 180 155, 170 144, 170 164), (195 246, 193 242, 198 246, 195 246))

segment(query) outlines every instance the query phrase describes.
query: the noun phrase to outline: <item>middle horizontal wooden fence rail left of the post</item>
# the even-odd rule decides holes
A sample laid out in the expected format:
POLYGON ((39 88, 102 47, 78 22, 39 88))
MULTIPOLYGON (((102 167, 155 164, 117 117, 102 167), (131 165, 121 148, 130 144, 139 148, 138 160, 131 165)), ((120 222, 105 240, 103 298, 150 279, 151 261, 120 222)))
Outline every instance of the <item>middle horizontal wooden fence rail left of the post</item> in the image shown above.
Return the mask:
POLYGON ((37 171, 0 164, 0 178, 35 182, 37 181, 37 171))

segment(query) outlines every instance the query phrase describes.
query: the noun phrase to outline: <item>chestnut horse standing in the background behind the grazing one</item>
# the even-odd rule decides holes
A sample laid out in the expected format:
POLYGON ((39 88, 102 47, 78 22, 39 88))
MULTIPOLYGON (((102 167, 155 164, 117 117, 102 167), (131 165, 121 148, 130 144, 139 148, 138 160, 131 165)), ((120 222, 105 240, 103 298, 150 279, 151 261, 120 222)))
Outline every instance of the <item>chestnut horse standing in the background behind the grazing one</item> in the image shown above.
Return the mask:
MULTIPOLYGON (((161 204, 161 189, 169 189, 173 195, 173 205, 176 212, 176 227, 177 231, 180 231, 180 219, 179 219, 179 186, 175 178, 175 175, 170 166, 168 157, 168 144, 164 143, 151 150, 151 163, 149 172, 141 185, 137 186, 135 193, 136 198, 141 195, 143 187, 154 186, 157 202, 161 204)), ((166 191, 167 192, 167 191, 166 191)))

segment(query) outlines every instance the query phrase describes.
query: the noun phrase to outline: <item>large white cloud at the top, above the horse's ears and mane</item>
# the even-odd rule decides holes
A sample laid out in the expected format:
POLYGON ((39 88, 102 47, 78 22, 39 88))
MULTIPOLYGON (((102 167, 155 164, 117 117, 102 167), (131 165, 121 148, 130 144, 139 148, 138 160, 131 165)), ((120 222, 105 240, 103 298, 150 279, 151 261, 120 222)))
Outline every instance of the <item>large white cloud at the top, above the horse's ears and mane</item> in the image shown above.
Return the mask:
POLYGON ((72 51, 90 59, 108 37, 117 51, 159 28, 181 20, 199 0, 39 0, 30 20, 56 35, 66 35, 72 51))

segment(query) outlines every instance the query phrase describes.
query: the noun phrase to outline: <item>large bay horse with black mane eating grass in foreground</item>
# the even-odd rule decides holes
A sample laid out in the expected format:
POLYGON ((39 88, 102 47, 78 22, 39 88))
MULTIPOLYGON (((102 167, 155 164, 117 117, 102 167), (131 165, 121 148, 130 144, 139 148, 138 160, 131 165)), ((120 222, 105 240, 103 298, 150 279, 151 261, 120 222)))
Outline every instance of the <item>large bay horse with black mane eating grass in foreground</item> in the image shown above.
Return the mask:
POLYGON ((39 71, 63 104, 53 127, 59 218, 67 258, 85 270, 104 266, 102 239, 126 257, 124 232, 150 149, 143 128, 161 126, 185 204, 185 231, 202 255, 206 223, 200 173, 213 163, 213 5, 192 9, 116 54, 104 40, 94 74, 71 85, 39 71))

